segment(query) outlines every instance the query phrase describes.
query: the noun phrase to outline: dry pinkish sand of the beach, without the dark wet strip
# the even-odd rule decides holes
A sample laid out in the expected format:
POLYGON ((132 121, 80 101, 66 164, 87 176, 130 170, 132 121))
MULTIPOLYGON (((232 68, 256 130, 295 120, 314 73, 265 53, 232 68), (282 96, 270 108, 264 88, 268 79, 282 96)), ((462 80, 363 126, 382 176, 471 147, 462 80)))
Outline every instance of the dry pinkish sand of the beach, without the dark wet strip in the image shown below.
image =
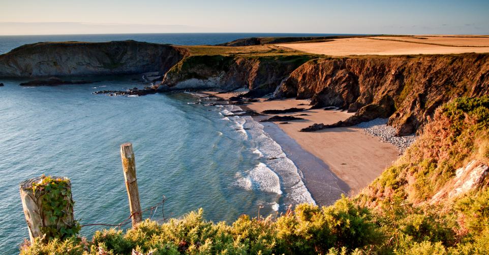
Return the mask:
MULTIPOLYGON (((224 99, 232 96, 230 93, 206 93, 214 94, 224 99)), ((309 102, 306 100, 282 99, 265 101, 261 99, 259 102, 249 103, 245 106, 250 110, 261 113, 265 110, 284 110, 291 107, 309 108, 308 104, 309 102)), ((336 176, 343 180, 350 189, 350 195, 357 194, 361 189, 369 185, 400 155, 399 150, 394 145, 380 141, 379 138, 373 137, 355 127, 332 128, 316 132, 298 132, 301 128, 314 123, 332 124, 345 120, 352 113, 325 111, 320 108, 298 113, 279 114, 279 116, 299 114, 307 114, 307 116, 297 116, 304 120, 288 121, 288 124, 276 122, 276 124, 294 139, 303 150, 322 160, 336 176)), ((301 170, 304 171, 303 169, 301 170)), ((304 173, 308 189, 310 191, 312 188, 320 189, 320 186, 311 187, 311 185, 308 185, 306 175, 304 173)), ((311 193, 314 192, 311 191, 311 193)))

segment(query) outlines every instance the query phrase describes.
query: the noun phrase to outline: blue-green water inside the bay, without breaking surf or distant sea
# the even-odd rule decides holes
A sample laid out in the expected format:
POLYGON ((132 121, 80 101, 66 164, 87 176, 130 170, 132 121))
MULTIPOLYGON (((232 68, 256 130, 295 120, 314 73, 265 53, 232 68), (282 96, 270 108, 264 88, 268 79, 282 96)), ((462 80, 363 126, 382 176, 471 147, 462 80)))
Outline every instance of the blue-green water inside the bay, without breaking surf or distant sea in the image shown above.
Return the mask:
MULTIPOLYGON (((236 184, 260 163, 221 108, 193 104, 190 94, 109 97, 93 87, 134 87, 107 78, 88 85, 0 87, 0 253, 16 253, 28 237, 18 184, 41 174, 72 180, 81 224, 118 223, 129 214, 119 145, 133 143, 142 207, 167 197, 165 216, 204 208, 213 221, 272 213, 277 193, 236 184)), ((137 86, 137 85, 136 85, 137 86)), ((148 215, 145 215, 147 217, 148 215)), ((156 220, 161 220, 158 212, 156 220)), ((90 234, 100 227, 85 227, 90 234)))

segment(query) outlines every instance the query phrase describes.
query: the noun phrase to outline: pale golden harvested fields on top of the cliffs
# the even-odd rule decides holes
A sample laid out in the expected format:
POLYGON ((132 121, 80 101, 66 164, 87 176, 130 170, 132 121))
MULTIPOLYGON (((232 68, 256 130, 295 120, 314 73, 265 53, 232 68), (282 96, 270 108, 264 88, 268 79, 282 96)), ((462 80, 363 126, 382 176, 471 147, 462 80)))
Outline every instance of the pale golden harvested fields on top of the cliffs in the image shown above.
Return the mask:
POLYGON ((321 43, 277 44, 288 49, 324 54, 349 55, 415 55, 489 52, 489 37, 373 37, 336 39, 321 43))

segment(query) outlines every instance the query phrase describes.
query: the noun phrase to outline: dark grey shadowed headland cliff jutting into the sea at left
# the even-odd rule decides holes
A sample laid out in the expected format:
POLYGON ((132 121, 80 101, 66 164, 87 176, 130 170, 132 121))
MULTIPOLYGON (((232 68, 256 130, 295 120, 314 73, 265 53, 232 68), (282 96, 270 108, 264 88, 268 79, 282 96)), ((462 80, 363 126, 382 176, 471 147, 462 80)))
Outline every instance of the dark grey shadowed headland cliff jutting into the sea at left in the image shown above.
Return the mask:
POLYGON ((135 41, 37 43, 0 55, 0 77, 164 74, 187 55, 178 47, 135 41))

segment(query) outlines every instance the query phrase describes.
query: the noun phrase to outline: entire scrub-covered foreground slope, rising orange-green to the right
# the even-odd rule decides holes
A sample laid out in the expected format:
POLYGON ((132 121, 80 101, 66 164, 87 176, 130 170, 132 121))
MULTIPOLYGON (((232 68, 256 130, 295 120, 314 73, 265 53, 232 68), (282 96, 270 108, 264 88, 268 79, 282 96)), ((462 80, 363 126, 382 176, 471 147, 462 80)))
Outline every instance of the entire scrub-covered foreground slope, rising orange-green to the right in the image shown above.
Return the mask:
POLYGON ((91 240, 37 242, 21 254, 487 254, 489 178, 487 168, 476 171, 487 163, 489 97, 459 98, 438 108, 404 156, 355 198, 231 225, 190 212, 91 240))

